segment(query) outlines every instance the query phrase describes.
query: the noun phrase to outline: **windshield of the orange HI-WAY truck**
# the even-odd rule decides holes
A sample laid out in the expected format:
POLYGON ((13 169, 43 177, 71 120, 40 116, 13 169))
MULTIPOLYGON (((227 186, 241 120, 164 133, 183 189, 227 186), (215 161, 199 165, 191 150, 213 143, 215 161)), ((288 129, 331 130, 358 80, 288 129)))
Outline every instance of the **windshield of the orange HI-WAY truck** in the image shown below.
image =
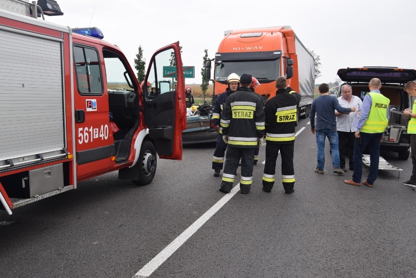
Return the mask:
POLYGON ((250 74, 258 80, 274 81, 280 76, 280 58, 275 60, 239 60, 239 61, 217 61, 215 66, 215 80, 227 81, 231 73, 242 75, 250 74))

